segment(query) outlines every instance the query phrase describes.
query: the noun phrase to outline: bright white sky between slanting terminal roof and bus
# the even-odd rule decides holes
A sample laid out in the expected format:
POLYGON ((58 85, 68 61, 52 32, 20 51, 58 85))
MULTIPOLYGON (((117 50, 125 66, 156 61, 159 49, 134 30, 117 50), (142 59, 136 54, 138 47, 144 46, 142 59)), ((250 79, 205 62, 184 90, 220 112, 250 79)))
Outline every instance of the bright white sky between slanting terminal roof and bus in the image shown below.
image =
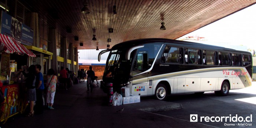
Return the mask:
MULTIPOLYGON (((243 45, 256 50, 256 4, 211 23, 187 36, 205 37, 209 42, 243 45)), ((211 45, 214 45, 211 44, 211 45)))

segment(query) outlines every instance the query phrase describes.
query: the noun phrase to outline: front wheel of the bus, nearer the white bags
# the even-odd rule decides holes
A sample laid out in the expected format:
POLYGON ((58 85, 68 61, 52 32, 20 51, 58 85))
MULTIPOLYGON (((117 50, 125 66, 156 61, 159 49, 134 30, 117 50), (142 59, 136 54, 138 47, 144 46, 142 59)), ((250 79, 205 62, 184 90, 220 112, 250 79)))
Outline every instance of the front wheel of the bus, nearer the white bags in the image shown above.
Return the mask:
POLYGON ((166 86, 163 83, 158 84, 155 90, 155 98, 157 98, 158 100, 164 101, 167 98, 166 95, 167 95, 166 86))

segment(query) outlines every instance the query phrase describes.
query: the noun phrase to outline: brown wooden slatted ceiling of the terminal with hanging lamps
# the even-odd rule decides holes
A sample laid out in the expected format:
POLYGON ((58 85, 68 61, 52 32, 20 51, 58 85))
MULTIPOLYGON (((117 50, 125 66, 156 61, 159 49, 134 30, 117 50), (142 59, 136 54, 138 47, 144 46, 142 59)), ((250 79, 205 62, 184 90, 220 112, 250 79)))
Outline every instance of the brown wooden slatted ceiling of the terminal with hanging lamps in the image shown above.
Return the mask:
POLYGON ((83 0, 20 0, 39 13, 50 27, 78 49, 105 49, 141 38, 177 39, 256 3, 256 0, 85 0, 91 13, 82 14, 83 0), (113 14, 116 5, 117 14, 113 14), (58 14, 56 18, 54 12, 58 14), (166 30, 160 30, 165 22, 166 30), (67 33, 70 27, 72 33, 67 33), (108 33, 108 28, 114 33, 108 33), (96 41, 92 40, 93 32, 96 41), (79 37, 79 41, 74 40, 79 37), (81 47, 79 43, 84 45, 81 47))

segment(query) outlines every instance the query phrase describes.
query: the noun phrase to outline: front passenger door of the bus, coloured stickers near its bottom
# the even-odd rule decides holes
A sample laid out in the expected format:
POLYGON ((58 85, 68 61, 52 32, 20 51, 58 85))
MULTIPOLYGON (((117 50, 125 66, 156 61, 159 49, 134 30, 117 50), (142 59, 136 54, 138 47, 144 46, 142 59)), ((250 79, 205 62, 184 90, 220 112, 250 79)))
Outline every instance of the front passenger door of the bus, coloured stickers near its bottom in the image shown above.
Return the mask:
POLYGON ((148 52, 138 52, 134 61, 132 70, 132 94, 147 96, 147 91, 151 91, 152 88, 148 87, 148 52))

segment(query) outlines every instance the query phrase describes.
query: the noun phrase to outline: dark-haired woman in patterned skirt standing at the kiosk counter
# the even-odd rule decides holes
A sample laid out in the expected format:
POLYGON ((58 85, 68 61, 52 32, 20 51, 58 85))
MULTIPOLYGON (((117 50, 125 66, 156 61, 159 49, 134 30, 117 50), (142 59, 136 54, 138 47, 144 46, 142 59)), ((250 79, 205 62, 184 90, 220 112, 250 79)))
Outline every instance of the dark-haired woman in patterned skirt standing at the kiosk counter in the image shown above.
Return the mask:
POLYGON ((27 101, 29 101, 29 114, 27 116, 33 116, 34 111, 34 103, 36 101, 36 66, 29 66, 29 73, 22 71, 22 74, 27 78, 26 87, 27 87, 27 101))

